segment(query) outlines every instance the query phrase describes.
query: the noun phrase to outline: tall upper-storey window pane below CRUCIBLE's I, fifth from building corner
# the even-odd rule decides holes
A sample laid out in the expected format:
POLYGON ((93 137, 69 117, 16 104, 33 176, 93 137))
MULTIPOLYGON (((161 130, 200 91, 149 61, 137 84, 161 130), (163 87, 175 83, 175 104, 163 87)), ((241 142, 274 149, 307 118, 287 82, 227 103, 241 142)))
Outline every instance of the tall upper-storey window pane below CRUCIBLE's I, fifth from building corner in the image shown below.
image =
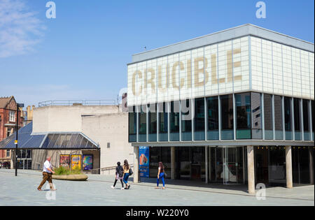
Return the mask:
POLYGON ((192 140, 192 103, 190 100, 182 101, 186 105, 181 105, 181 139, 183 141, 192 140))

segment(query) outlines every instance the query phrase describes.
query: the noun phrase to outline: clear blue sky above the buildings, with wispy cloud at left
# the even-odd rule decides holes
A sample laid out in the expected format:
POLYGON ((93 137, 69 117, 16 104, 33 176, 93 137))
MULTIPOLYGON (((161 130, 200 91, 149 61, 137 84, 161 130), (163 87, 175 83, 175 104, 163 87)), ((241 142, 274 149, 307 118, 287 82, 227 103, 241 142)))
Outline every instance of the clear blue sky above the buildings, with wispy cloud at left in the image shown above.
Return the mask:
POLYGON ((26 105, 60 99, 116 99, 132 54, 241 24, 314 43, 314 1, 0 0, 0 96, 26 105))

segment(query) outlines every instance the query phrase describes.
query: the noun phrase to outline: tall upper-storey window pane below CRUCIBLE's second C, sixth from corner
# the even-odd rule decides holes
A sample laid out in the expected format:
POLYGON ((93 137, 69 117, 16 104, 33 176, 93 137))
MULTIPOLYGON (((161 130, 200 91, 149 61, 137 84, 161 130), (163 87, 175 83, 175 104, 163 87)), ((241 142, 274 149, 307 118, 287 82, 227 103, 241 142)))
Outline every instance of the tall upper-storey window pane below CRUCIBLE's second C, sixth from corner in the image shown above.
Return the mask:
POLYGON ((171 141, 179 141, 179 101, 171 103, 170 120, 170 136, 171 141))

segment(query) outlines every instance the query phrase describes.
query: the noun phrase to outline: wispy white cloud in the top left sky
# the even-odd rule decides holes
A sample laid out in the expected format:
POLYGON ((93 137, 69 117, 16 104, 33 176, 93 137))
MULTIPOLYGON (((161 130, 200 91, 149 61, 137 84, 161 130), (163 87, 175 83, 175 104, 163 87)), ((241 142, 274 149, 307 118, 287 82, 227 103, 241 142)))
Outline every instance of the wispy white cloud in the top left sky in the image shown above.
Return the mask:
POLYGON ((24 1, 0 0, 0 58, 33 51, 44 29, 24 1))

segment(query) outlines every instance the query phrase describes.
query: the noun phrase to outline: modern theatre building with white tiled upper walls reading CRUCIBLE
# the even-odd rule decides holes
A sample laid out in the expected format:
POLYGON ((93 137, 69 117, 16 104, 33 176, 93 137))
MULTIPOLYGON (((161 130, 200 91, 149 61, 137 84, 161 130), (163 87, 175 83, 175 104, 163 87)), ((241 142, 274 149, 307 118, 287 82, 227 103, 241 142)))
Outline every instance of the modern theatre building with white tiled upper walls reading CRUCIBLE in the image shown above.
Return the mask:
POLYGON ((169 178, 249 193, 314 184, 314 43, 245 24, 134 54, 127 71, 149 177, 162 161, 169 178))

